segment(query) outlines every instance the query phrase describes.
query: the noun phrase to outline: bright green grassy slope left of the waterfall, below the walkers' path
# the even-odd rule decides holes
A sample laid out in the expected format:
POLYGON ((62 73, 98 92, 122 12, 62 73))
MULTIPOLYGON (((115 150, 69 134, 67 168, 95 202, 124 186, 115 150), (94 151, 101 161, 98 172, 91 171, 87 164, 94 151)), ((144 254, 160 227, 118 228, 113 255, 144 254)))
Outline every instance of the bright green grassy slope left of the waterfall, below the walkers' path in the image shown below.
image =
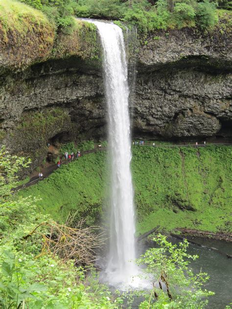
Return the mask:
POLYGON ((38 211, 57 221, 77 211, 78 218, 85 217, 92 224, 101 214, 104 162, 104 153, 83 156, 20 194, 42 198, 37 201, 38 211))

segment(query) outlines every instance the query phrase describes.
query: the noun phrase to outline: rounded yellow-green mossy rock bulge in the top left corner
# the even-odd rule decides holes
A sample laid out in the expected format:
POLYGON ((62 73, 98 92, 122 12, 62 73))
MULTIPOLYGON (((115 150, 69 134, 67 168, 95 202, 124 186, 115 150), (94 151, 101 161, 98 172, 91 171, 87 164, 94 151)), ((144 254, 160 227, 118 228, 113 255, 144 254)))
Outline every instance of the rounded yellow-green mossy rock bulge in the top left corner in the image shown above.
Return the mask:
POLYGON ((45 61, 51 52, 54 25, 23 3, 0 2, 0 73, 45 61))

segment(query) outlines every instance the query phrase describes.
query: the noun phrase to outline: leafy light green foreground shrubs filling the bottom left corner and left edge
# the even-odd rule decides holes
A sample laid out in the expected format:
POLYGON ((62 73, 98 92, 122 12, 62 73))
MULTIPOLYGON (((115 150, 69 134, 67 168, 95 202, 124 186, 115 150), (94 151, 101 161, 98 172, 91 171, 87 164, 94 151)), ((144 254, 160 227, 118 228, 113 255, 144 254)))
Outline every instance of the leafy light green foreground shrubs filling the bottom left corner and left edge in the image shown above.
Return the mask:
MULTIPOLYGON (((12 187, 17 185, 18 172, 24 158, 10 156, 2 148, 4 171, 12 187)), ((2 159, 1 158, 1 159, 2 159)), ((1 161, 0 161, 1 162, 1 161)), ((2 164, 1 164, 2 167, 2 164)), ((4 175, 4 176, 5 176, 4 175)), ((7 181, 2 191, 8 192, 7 181)), ((120 297, 113 299, 111 292, 99 284, 95 271, 86 284, 87 272, 51 258, 43 247, 42 235, 49 231, 42 223, 48 215, 35 211, 30 197, 14 199, 2 197, 0 205, 0 308, 2 309, 110 309, 118 308, 120 297), (34 229, 38 233, 31 233, 34 229), (36 256, 36 258, 35 258, 36 256)))

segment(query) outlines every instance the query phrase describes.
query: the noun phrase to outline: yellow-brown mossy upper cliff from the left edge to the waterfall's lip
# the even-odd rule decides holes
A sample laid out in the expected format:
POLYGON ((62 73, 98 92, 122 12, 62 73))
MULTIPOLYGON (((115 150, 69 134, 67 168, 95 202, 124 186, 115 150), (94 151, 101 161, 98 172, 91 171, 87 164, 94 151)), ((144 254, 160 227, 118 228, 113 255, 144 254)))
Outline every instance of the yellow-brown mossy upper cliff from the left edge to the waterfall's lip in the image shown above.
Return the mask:
POLYGON ((0 3, 0 42, 0 75, 48 59, 99 56, 93 24, 73 18, 69 32, 57 32, 42 12, 13 0, 0 3))

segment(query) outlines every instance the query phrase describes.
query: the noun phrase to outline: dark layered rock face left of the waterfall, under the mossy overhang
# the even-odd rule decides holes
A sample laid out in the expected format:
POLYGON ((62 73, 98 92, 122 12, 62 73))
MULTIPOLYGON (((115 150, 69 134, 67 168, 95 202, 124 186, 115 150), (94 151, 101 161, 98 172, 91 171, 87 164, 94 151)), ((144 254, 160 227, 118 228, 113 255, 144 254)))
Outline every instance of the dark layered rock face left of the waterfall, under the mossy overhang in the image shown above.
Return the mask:
POLYGON ((8 75, 1 83, 1 132, 13 153, 47 155, 49 142, 98 139, 105 130, 102 78, 77 67, 46 63, 8 75))

